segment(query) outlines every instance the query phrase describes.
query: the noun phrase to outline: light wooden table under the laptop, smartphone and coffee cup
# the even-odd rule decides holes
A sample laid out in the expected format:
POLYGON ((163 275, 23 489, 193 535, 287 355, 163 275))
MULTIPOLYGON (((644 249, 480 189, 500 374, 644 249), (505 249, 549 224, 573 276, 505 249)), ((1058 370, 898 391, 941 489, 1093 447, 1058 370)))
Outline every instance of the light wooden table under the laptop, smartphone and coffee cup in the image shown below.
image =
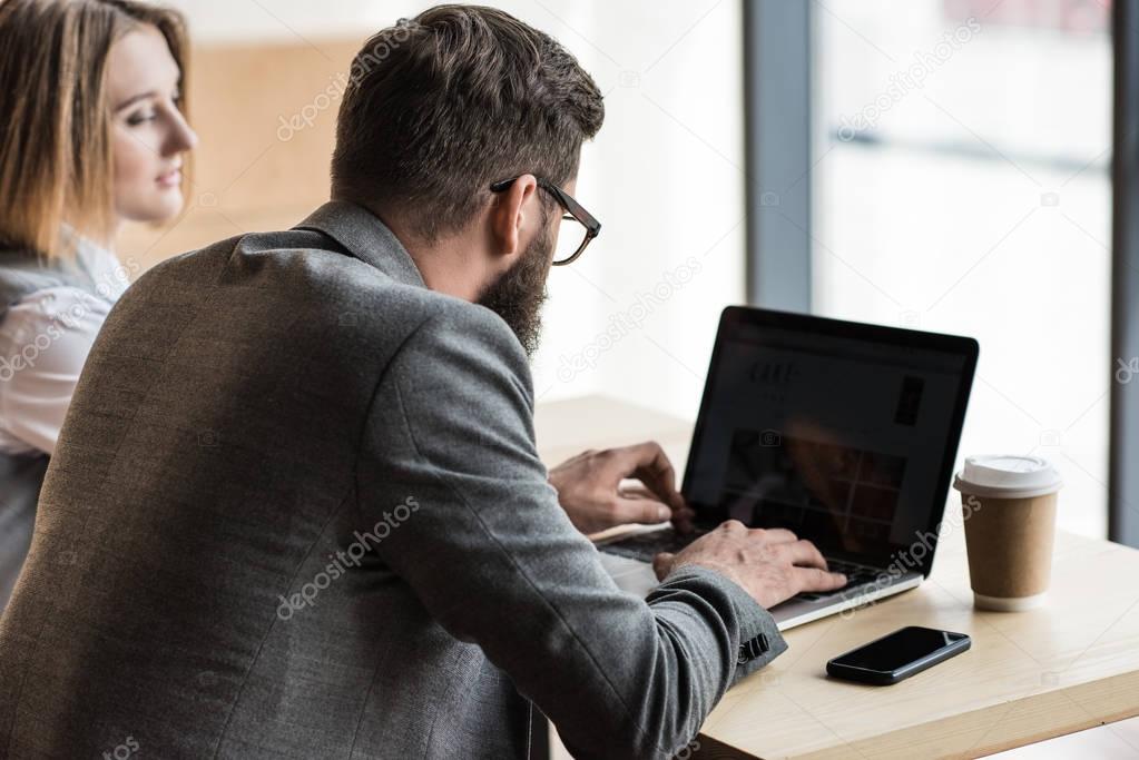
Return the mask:
MULTIPOLYGON (((691 432, 600 396, 540 405, 535 423, 549 465, 655 439, 681 471, 691 432)), ((960 509, 957 498, 949 509, 960 509)), ((788 651, 713 710, 694 757, 989 754, 1139 714, 1139 551, 1060 531, 1044 608, 978 612, 961 529, 947 528, 919 588, 785 636, 788 651), (973 649, 894 686, 827 678, 828 659, 908 625, 966 633, 973 649)))

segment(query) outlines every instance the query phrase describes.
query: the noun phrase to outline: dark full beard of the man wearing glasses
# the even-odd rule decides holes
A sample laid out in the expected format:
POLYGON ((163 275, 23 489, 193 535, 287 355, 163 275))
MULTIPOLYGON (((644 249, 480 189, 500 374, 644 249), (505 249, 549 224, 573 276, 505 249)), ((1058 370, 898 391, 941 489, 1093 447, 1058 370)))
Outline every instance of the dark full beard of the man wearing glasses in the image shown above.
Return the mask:
POLYGON ((541 341, 541 312, 554 247, 550 229, 542 224, 542 230, 518 263, 499 275, 478 297, 480 304, 501 316, 514 330, 527 357, 533 357, 541 341))

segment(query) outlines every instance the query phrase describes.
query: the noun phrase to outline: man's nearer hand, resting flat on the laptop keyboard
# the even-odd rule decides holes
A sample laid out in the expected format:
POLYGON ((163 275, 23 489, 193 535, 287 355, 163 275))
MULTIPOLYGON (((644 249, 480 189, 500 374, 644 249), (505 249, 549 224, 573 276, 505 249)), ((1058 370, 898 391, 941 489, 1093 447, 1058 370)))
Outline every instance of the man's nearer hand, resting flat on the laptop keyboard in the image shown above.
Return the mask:
POLYGON ((677 554, 657 554, 653 560, 661 580, 686 565, 727 576, 764 609, 801 592, 829 592, 846 585, 846 576, 827 571, 827 561, 811 542, 782 528, 749 529, 738 520, 728 520, 677 554))

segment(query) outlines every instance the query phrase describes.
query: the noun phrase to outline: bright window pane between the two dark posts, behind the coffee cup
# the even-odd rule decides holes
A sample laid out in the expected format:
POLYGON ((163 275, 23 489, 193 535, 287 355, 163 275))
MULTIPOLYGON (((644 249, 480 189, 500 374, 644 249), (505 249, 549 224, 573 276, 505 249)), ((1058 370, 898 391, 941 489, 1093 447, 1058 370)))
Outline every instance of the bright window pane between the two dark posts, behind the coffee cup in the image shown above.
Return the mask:
POLYGON ((1106 536, 1109 9, 813 5, 812 311, 977 338, 960 455, 1050 459, 1106 536))

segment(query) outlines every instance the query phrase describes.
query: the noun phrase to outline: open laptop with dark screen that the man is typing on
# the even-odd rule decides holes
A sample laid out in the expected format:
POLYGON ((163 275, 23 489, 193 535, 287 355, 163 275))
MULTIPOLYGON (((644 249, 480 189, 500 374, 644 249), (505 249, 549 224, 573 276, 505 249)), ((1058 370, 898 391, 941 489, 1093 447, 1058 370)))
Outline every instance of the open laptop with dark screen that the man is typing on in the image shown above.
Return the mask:
POLYGON ((647 595, 656 553, 724 520, 787 528, 849 583, 772 608, 780 630, 918 586, 933 567, 977 353, 972 338, 728 307, 681 486, 696 532, 625 534, 598 545, 603 563, 647 595))

